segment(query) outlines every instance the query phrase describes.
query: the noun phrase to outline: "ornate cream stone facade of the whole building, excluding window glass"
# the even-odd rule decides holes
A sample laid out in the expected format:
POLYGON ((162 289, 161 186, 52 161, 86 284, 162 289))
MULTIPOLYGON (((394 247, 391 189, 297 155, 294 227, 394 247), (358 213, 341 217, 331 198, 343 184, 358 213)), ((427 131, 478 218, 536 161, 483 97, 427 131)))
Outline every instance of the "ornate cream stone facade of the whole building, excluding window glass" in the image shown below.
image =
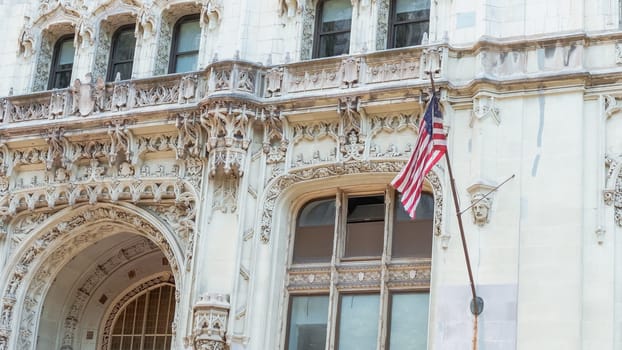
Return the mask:
POLYGON ((352 0, 349 53, 311 59, 318 4, 0 1, 0 350, 109 350, 129 301, 161 284, 176 289, 171 349, 286 348, 289 300, 319 294, 339 347, 356 292, 385 311, 429 292, 430 349, 622 348, 619 4, 431 1, 422 45, 387 50, 395 3, 352 0), (196 65, 168 74, 188 15, 196 65), (131 75, 110 79, 126 25, 131 75), (48 90, 69 36, 69 84, 48 90), (381 258, 344 257, 338 236, 334 263, 291 263, 305 203, 394 207, 430 77, 458 202, 474 204, 475 337, 445 160, 424 184, 432 258, 391 256, 387 209, 381 258))

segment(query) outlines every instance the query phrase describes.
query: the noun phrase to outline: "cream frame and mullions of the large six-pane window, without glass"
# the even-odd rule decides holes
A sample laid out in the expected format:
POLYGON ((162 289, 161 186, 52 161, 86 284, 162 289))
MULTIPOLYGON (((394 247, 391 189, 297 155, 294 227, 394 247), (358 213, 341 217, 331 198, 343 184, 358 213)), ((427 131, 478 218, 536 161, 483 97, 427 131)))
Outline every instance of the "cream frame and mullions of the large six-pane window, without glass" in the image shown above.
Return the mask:
MULTIPOLYGON (((397 222, 397 205, 401 205, 399 202, 399 193, 395 191, 393 188, 387 186, 384 189, 380 187, 374 188, 366 188, 363 191, 359 191, 356 188, 349 188, 347 190, 336 189, 335 191, 330 191, 327 193, 323 191, 318 193, 317 195, 304 196, 299 200, 299 204, 293 206, 293 211, 291 212, 291 217, 294 219, 290 223, 290 246, 288 249, 288 259, 287 266, 285 267, 285 276, 289 281, 290 278, 296 274, 299 274, 300 271, 303 270, 326 270, 329 269, 329 275, 333 275, 333 270, 337 275, 341 273, 340 269, 348 269, 348 268, 369 268, 370 271, 384 271, 387 272, 393 267, 400 267, 411 264, 423 264, 426 265, 425 268, 431 271, 432 268, 432 257, 434 252, 434 247, 436 245, 436 239, 434 235, 434 216, 437 215, 436 210, 436 198, 434 198, 434 191, 426 182, 424 183, 424 193, 431 196, 434 201, 433 204, 433 218, 432 218, 432 227, 430 229, 429 235, 432 236, 432 247, 430 251, 429 257, 392 257, 392 243, 393 243, 393 225, 397 222), (329 194, 330 193, 330 194, 329 194), (345 240, 347 234, 347 210, 348 210, 348 198, 353 197, 362 197, 362 196, 384 196, 384 206, 385 206, 385 216, 384 216, 384 231, 383 231, 383 247, 382 247, 382 256, 381 257, 346 257, 345 256, 345 240), (296 229, 298 227, 298 220, 300 219, 300 213, 303 211, 305 206, 309 203, 312 203, 316 200, 325 200, 335 198, 337 207, 335 208, 335 227, 333 233, 333 254, 329 262, 295 262, 294 260, 294 245, 296 244, 296 229), (378 270, 379 269, 379 270, 378 270)), ((428 219, 426 219, 428 220, 428 219)), ((431 275, 431 273, 430 273, 431 275)), ((429 278, 429 277, 428 277, 429 278)), ((376 344, 382 346, 384 344, 385 348, 388 349, 389 341, 390 341, 390 317, 391 317, 391 300, 393 294, 397 293, 428 293, 430 294, 431 283, 428 279, 424 284, 420 284, 419 282, 413 282, 408 285, 402 284, 390 284, 390 281, 380 279, 380 284, 377 286, 350 286, 346 284, 341 284, 340 281, 331 281, 327 286, 322 286, 320 288, 317 287, 309 287, 305 289, 304 287, 300 287, 299 285, 290 286, 289 282, 286 283, 285 286, 285 294, 284 297, 284 312, 286 313, 282 318, 286 324, 282 328, 284 330, 284 334, 282 335, 282 344, 281 348, 286 350, 289 349, 289 341, 290 341, 290 327, 291 327, 291 310, 292 310, 292 300, 294 297, 298 296, 316 296, 316 295, 328 295, 329 305, 328 305, 328 322, 327 322, 327 330, 326 330, 326 342, 328 346, 332 346, 335 349, 339 346, 339 334, 340 334, 340 317, 341 317, 341 309, 342 309, 342 297, 345 295, 370 295, 377 294, 379 296, 379 315, 378 315, 378 333, 376 334, 376 344)), ((430 317, 430 302, 432 298, 429 297, 428 301, 428 329, 426 335, 426 342, 429 343, 429 317, 430 317)))

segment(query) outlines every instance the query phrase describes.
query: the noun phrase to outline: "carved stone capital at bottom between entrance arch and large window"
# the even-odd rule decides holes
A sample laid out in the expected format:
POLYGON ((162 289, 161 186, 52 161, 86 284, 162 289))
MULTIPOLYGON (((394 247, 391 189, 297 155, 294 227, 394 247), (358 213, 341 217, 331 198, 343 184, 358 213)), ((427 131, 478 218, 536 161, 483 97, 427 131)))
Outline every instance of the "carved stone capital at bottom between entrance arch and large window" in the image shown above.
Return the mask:
POLYGON ((188 341, 194 350, 226 349, 229 308, 229 295, 225 294, 204 294, 194 304, 188 341))

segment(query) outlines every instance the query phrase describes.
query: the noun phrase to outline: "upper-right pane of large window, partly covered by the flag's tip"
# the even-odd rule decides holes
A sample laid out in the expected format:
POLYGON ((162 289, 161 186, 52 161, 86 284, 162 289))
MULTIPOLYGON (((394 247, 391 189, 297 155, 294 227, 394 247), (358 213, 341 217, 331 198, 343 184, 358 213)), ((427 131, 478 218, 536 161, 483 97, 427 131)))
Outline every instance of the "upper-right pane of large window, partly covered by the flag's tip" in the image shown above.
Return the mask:
POLYGON ((402 203, 395 203, 393 244, 391 255, 395 258, 430 258, 432 256, 432 229, 434 197, 422 193, 417 205, 415 220, 411 220, 402 203))

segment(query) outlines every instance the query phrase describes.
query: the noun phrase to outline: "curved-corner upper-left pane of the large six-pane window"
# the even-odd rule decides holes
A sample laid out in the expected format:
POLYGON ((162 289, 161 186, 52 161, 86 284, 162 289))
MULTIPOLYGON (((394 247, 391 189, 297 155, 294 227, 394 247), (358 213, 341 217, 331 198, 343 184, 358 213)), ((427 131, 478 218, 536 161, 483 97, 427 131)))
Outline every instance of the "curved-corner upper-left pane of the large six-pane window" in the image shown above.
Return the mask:
POLYGON ((335 200, 306 204, 298 216, 294 238, 294 262, 329 262, 333 254, 335 200))

